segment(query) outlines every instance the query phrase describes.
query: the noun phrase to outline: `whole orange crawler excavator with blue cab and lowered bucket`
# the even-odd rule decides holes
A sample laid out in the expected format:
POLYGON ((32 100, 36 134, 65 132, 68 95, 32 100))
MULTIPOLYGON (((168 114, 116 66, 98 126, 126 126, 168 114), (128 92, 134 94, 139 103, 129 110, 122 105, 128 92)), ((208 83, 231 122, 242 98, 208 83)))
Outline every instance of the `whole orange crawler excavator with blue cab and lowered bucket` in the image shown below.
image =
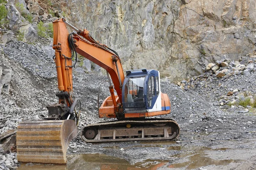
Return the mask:
POLYGON ((99 118, 117 119, 85 126, 81 130, 82 140, 91 143, 177 138, 180 127, 175 120, 148 118, 171 112, 169 97, 160 90, 159 71, 138 69, 124 73, 116 51, 94 40, 86 28, 82 31, 67 23, 65 18, 53 21, 52 48, 58 103, 47 106, 47 118, 23 121, 17 127, 18 161, 67 163, 67 148, 78 134, 81 112, 81 102, 73 96, 72 69, 77 53, 106 70, 110 95, 99 108, 99 118), (69 33, 67 26, 76 33, 69 33))

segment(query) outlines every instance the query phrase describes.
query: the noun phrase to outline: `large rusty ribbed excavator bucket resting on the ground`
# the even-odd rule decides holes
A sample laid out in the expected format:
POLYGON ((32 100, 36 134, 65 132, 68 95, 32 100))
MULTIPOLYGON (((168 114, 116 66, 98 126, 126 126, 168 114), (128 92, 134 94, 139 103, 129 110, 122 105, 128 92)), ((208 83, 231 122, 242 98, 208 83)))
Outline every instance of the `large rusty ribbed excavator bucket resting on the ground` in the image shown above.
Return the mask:
POLYGON ((67 147, 78 134, 73 120, 24 121, 17 127, 20 162, 66 164, 67 147))

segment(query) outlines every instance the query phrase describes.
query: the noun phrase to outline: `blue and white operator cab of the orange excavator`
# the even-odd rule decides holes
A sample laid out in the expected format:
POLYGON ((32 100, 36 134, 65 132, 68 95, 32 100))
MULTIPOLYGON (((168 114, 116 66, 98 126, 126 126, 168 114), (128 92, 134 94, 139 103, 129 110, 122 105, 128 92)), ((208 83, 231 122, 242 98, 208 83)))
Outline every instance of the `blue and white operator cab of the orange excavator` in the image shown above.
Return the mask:
POLYGON ((161 111, 159 71, 126 71, 122 101, 125 113, 161 111))

